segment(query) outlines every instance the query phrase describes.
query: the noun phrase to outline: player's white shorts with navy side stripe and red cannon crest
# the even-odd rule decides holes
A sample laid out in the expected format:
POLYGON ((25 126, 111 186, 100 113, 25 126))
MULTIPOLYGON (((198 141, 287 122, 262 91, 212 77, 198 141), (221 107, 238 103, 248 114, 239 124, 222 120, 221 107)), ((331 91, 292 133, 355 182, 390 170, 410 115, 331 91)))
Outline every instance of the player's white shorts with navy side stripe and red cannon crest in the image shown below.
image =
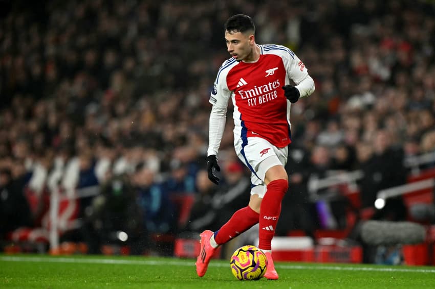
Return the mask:
POLYGON ((272 166, 286 165, 288 147, 277 148, 264 138, 248 137, 246 143, 242 139, 237 139, 234 149, 238 158, 251 171, 251 195, 257 194, 263 198, 266 194, 266 172, 272 166))

